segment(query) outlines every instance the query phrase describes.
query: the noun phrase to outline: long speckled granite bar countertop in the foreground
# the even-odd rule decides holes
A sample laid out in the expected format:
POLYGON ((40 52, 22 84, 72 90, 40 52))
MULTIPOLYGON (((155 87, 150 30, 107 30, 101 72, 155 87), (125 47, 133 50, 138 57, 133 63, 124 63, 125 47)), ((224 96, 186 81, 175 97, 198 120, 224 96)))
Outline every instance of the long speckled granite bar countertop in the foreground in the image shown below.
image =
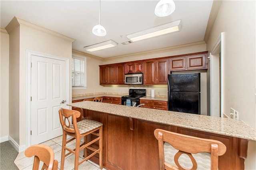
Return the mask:
POLYGON ((68 106, 256 141, 256 131, 242 120, 91 101, 68 106))

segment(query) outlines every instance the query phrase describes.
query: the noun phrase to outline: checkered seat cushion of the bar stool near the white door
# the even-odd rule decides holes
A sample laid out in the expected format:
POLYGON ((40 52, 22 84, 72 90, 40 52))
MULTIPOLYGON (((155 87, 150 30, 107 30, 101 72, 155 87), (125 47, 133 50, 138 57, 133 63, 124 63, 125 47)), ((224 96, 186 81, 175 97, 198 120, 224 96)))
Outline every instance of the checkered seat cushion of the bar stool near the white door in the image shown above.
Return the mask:
MULTIPOLYGON (((102 126, 102 123, 90 119, 84 119, 82 121, 77 122, 77 127, 80 132, 80 134, 89 132, 93 129, 96 129, 98 127, 102 126)), ((70 128, 74 129, 73 125, 70 126, 70 128)))

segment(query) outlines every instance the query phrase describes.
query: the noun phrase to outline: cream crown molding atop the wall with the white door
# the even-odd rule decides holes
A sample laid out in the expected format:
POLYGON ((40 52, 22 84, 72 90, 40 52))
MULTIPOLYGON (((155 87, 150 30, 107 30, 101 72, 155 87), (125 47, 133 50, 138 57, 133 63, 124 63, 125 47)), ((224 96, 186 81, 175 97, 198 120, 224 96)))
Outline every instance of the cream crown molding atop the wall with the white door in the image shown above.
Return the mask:
POLYGON ((32 29, 37 29, 39 31, 43 31, 45 33, 49 33, 51 35, 54 35, 54 36, 57 36, 57 37, 60 37, 60 38, 63 38, 63 39, 66 39, 68 41, 71 41, 71 42, 74 42, 75 39, 73 38, 70 38, 70 37, 67 37, 66 35, 62 35, 60 33, 57 33, 55 31, 52 31, 50 29, 47 29, 47 28, 44 28, 44 27, 41 27, 39 25, 36 25, 32 22, 29 22, 29 21, 26 21, 26 20, 23 20, 21 18, 18 18, 16 16, 14 16, 14 18, 12 19, 12 21, 10 21, 10 23, 6 26, 6 30, 7 32, 10 34, 14 29, 16 29, 19 25, 23 25, 23 26, 26 26, 26 27, 29 27, 29 28, 32 28, 32 29))

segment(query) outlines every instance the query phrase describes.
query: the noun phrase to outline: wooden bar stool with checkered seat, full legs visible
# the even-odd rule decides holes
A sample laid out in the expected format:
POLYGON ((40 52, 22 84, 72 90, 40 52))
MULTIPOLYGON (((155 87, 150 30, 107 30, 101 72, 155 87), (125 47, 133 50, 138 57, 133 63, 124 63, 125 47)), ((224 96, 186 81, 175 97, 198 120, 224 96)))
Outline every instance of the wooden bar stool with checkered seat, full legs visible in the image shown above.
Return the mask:
POLYGON ((80 117, 80 112, 64 108, 60 108, 59 116, 60 123, 63 129, 60 169, 64 169, 65 157, 71 153, 75 155, 74 170, 78 170, 78 165, 82 164, 84 161, 88 160, 96 153, 99 154, 99 164, 100 169, 102 169, 102 123, 89 119, 83 119, 82 121, 77 122, 76 118, 80 117), (72 117, 73 125, 71 125, 70 123, 70 117, 72 117), (96 139, 87 142, 87 135, 89 134, 95 135, 96 139), (67 141, 67 135, 71 136, 72 139, 67 141), (84 138, 84 142, 80 145, 80 140, 82 138, 84 138), (76 139, 76 148, 68 148, 67 144, 73 141, 74 139, 76 139), (99 141, 99 147, 93 148, 91 145, 97 141, 99 141), (87 155, 87 149, 92 150, 92 153, 90 155, 87 155), (66 150, 68 151, 67 154, 65 154, 66 150), (80 150, 84 150, 84 159, 79 162, 80 150))

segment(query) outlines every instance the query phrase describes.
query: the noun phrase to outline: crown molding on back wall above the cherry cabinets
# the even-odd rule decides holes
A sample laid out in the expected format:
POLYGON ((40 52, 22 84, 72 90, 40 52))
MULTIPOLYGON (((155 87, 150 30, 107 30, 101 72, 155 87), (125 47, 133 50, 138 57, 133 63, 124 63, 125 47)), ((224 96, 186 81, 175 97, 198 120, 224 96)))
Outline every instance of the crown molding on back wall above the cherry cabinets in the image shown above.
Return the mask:
POLYGON ((167 51, 173 51, 175 49, 186 48, 186 47, 191 47, 191 46, 194 46, 194 45, 201 45, 201 44, 206 44, 206 43, 204 41, 198 41, 198 42, 194 42, 194 43, 175 45, 175 46, 172 46, 172 47, 165 47, 165 48, 154 49, 154 50, 149 50, 149 51, 142 51, 142 52, 139 52, 139 53, 131 53, 131 54, 126 54, 126 55, 119 55, 119 56, 104 58, 103 61, 110 61, 110 60, 124 58, 124 57, 134 57, 134 56, 147 55, 147 54, 152 55, 152 54, 163 53, 163 52, 167 52, 167 51))

